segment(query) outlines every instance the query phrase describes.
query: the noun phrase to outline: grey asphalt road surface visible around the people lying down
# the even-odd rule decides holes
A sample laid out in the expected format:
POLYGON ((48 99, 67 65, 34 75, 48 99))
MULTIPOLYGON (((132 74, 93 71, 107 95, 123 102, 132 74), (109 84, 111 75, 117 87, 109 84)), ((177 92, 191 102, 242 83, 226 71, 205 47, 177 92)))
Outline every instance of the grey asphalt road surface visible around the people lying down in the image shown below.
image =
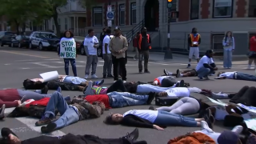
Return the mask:
MULTIPOLYGON (((98 59, 97 75, 102 78, 102 65, 101 58, 98 59)), ((84 77, 84 70, 86 66, 86 57, 78 55, 77 58, 78 76, 84 77)), ((195 66, 195 65, 192 65, 195 66)), ((58 58, 55 52, 39 51, 39 50, 26 50, 10 47, 0 47, 0 89, 4 88, 17 88, 22 89, 22 82, 26 78, 38 78, 39 74, 52 70, 58 70, 59 74, 64 73, 63 60, 58 58)), ((221 66, 219 66, 221 67, 221 66)), ((254 74, 254 70, 244 70, 246 63, 234 65, 234 69, 230 71, 240 71, 248 74, 254 74), (244 66, 243 66, 244 65, 244 66)), ((176 71, 178 68, 186 70, 186 63, 169 63, 169 62, 150 62, 149 70, 150 74, 138 74, 138 62, 133 59, 129 59, 126 66, 127 69, 127 81, 153 81, 154 78, 162 75, 162 70, 166 68, 170 71, 176 71)), ((70 75, 72 71, 70 69, 70 75)), ((224 92, 237 92, 242 86, 254 86, 255 82, 236 81, 236 80, 214 80, 214 77, 210 77, 209 81, 198 81, 197 78, 183 78, 186 82, 190 82, 190 86, 196 86, 202 89, 209 89, 213 91, 224 92)), ((179 80, 182 78, 178 78, 179 80)), ((110 86, 113 83, 113 79, 106 79, 103 86, 110 86)), ((49 91, 51 93, 53 91, 49 91)), ((78 91, 62 91, 63 95, 78 95, 82 94, 78 91)), ((130 106, 120 109, 113 109, 106 111, 101 118, 84 120, 74 123, 70 126, 66 126, 62 130, 58 130, 50 135, 58 136, 62 134, 94 134, 102 138, 118 138, 133 130, 133 127, 125 126, 107 126, 103 123, 104 118, 110 113, 123 114, 126 110, 132 109, 148 109, 149 106, 130 106)), ((40 127, 34 126, 34 122, 37 119, 33 118, 6 118, 0 122, 0 127, 6 126, 14 130, 19 138, 34 138, 40 134, 40 127)), ((149 144, 164 144, 167 143, 170 138, 174 138, 178 135, 186 134, 193 130, 199 130, 200 128, 180 127, 172 126, 165 130, 153 130, 153 129, 139 129, 139 139, 146 140, 149 144)), ((214 130, 221 132, 224 130, 218 123, 214 126, 214 130)), ((228 128, 226 128, 228 129, 228 128)))

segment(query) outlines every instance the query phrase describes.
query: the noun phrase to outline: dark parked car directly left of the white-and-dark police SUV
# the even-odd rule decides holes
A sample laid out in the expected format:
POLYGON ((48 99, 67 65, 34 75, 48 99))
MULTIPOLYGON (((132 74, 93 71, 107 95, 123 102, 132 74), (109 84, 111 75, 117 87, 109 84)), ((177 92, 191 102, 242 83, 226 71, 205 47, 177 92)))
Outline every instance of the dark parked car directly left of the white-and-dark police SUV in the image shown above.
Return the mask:
POLYGON ((11 47, 18 46, 19 48, 26 47, 29 48, 30 46, 30 36, 27 35, 17 35, 11 41, 11 47))

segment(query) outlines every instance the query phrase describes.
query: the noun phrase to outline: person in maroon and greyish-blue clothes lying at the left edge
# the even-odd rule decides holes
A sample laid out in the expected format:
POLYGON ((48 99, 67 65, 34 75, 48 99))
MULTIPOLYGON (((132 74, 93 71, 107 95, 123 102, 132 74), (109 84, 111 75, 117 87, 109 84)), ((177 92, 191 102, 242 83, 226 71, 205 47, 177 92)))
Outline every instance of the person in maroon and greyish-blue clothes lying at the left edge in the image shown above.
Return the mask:
MULTIPOLYGON (((47 91, 47 90, 46 90, 47 91)), ((0 106, 6 105, 6 108, 20 106, 22 102, 29 99, 39 100, 42 98, 50 98, 52 94, 39 94, 30 90, 6 89, 0 90, 0 106)))

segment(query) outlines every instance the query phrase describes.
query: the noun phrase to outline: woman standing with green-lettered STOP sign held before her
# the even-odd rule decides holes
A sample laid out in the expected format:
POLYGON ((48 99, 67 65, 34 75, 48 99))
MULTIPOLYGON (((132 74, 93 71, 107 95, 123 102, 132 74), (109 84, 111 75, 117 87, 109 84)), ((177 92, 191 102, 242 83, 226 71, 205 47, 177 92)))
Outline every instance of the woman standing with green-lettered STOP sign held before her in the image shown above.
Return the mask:
POLYGON ((71 63, 74 76, 77 74, 77 66, 75 64, 75 58, 77 58, 76 43, 74 41, 74 34, 70 30, 64 32, 63 38, 61 39, 60 49, 58 56, 64 59, 65 73, 69 75, 69 66, 71 63))

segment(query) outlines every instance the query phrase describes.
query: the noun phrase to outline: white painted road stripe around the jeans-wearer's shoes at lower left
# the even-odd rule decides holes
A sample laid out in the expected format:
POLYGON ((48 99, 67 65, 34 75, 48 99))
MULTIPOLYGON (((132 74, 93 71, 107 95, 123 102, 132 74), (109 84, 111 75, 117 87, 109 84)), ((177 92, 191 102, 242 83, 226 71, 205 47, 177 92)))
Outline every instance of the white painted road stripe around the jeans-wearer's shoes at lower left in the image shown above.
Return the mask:
MULTIPOLYGON (((31 118, 31 117, 23 117, 23 118, 16 118, 19 122, 24 123, 26 126, 28 126, 31 130, 37 131, 41 134, 41 126, 35 126, 35 122, 38 122, 38 118, 31 118)), ((61 130, 55 130, 54 132, 50 134, 43 134, 48 135, 51 137, 58 137, 65 135, 61 130)))

